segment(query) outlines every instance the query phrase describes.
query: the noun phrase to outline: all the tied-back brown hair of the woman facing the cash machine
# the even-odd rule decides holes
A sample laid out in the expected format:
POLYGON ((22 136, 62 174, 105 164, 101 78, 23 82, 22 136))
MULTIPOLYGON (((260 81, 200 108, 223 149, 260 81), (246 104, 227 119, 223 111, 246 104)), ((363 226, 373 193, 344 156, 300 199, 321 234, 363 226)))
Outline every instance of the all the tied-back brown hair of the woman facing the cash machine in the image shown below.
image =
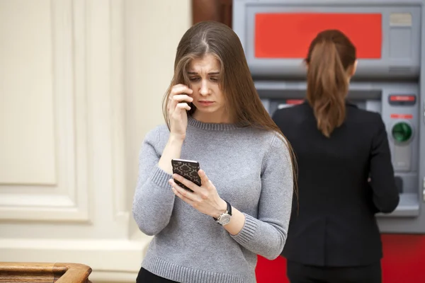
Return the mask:
POLYGON ((356 47, 339 30, 324 30, 312 41, 307 58, 307 101, 317 128, 330 137, 346 117, 348 71, 356 62, 356 47))

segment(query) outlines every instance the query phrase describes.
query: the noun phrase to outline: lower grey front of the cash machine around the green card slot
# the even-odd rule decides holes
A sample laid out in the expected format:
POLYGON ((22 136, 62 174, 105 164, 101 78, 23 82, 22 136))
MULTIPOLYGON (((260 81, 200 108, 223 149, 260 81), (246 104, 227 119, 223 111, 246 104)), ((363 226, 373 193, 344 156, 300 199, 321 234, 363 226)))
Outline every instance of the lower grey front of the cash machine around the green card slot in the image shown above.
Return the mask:
MULTIPOLYGON (((273 115, 278 108, 288 107, 286 100, 305 98, 306 85, 298 81, 256 81, 256 89, 264 106, 273 115)), ((348 93, 348 100, 359 108, 379 112, 387 129, 400 202, 392 214, 378 214, 378 224, 385 233, 425 232, 425 212, 421 207, 424 202, 424 175, 419 174, 419 162, 424 159, 420 159, 419 147, 420 139, 424 140, 421 136, 424 132, 425 108, 421 107, 424 102, 420 103, 419 98, 417 83, 351 83, 348 93), (390 103, 390 97, 404 95, 414 96, 415 103, 390 103), (393 134, 393 129, 401 122, 412 129, 412 135, 404 142, 397 141, 393 134)))

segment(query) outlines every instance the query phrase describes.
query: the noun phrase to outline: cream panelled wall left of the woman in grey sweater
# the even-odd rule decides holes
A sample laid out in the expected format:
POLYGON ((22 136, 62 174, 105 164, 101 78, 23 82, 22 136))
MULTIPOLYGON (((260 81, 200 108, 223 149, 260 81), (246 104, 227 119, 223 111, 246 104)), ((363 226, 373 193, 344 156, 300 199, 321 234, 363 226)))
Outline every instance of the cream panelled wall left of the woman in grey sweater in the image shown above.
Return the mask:
POLYGON ((135 282, 137 153, 190 0, 0 0, 0 261, 135 282))

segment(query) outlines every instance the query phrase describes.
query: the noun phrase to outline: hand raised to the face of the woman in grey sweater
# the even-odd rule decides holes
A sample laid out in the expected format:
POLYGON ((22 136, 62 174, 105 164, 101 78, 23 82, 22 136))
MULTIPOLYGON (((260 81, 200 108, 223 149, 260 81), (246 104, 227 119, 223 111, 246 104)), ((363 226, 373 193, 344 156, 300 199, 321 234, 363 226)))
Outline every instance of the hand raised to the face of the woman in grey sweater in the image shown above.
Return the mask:
POLYGON ((188 103, 193 101, 193 98, 188 96, 193 91, 188 86, 177 84, 171 88, 168 104, 168 115, 170 121, 170 134, 178 139, 185 139, 186 129, 188 127, 188 116, 186 111, 191 110, 188 103))

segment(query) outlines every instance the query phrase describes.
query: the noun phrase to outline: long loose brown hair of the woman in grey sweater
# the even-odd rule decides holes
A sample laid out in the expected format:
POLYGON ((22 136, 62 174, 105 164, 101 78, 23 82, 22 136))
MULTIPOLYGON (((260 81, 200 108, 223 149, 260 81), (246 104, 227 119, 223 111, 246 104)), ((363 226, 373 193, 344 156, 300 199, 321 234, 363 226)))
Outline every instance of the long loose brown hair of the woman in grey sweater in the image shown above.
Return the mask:
MULTIPOLYGON (((190 86, 186 68, 191 59, 202 58, 205 54, 212 54, 220 62, 220 88, 225 93, 226 107, 234 122, 277 132, 287 144, 297 193, 293 149, 261 103, 239 37, 227 25, 215 21, 196 23, 181 38, 174 61, 174 77, 163 100, 163 114, 167 126, 170 127, 167 108, 171 88, 178 83, 190 86)), ((192 104, 188 115, 195 111, 195 105, 192 104)))

